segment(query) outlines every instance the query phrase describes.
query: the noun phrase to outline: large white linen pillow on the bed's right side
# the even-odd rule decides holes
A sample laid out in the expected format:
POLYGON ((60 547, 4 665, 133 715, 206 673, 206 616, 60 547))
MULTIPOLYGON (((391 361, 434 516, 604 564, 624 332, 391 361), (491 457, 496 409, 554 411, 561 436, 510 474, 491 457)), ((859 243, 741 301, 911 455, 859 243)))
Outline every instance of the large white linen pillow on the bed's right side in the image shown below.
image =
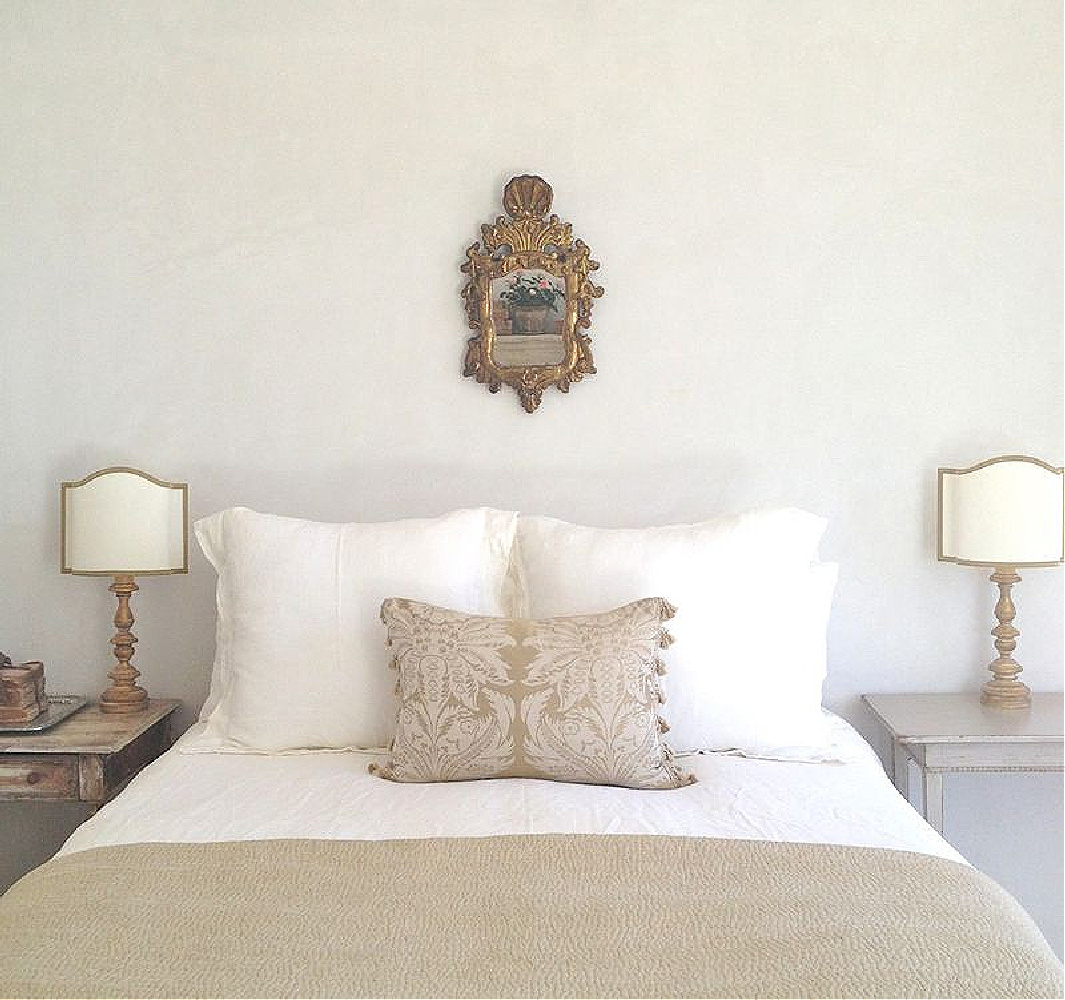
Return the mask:
POLYGON ((814 562, 825 526, 793 508, 617 529, 523 514, 514 554, 522 613, 591 614, 660 593, 677 612, 676 643, 662 654, 674 752, 823 751, 837 575, 835 564, 814 562))

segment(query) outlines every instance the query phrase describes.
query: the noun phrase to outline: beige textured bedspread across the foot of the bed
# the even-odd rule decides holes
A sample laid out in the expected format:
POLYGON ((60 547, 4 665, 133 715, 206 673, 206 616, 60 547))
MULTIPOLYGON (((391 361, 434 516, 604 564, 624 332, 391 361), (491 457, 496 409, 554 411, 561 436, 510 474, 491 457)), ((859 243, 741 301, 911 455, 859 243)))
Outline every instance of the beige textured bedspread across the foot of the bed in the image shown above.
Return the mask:
POLYGON ((963 865, 623 836, 99 848, 0 900, 0 996, 1061 997, 963 865))

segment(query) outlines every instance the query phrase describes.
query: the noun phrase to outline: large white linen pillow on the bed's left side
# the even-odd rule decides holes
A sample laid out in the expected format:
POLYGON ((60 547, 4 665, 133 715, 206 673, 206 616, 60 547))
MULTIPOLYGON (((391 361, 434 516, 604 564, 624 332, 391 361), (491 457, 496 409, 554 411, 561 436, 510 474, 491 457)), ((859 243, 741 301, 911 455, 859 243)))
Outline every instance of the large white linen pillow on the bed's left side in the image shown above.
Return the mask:
POLYGON ((378 617, 396 593, 504 616, 517 514, 326 524, 234 507, 195 524, 218 573, 203 734, 185 749, 383 748, 395 721, 378 617))

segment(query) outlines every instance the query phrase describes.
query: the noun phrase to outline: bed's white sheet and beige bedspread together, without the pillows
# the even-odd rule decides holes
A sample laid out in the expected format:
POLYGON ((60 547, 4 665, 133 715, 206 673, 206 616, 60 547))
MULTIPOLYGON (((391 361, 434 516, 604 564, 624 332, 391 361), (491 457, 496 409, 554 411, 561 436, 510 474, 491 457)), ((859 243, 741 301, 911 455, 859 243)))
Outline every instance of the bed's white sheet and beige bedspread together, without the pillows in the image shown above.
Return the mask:
POLYGON ((194 727, 0 901, 0 991, 1060 996, 1020 907, 830 727, 833 760, 703 754, 666 793, 395 784, 194 727))

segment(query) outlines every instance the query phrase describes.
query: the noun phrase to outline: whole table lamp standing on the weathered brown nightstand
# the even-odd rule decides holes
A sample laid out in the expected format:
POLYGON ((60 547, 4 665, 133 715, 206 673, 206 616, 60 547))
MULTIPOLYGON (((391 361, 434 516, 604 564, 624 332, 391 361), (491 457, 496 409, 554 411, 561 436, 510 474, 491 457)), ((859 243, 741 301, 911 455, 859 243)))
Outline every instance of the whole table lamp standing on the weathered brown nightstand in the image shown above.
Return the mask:
POLYGON ((130 630, 134 576, 189 572, 189 486, 164 482, 136 469, 101 469, 60 489, 62 571, 78 576, 113 576, 118 597, 115 636, 118 665, 100 695, 100 709, 130 712, 143 708, 148 693, 130 660, 137 641, 130 630))

